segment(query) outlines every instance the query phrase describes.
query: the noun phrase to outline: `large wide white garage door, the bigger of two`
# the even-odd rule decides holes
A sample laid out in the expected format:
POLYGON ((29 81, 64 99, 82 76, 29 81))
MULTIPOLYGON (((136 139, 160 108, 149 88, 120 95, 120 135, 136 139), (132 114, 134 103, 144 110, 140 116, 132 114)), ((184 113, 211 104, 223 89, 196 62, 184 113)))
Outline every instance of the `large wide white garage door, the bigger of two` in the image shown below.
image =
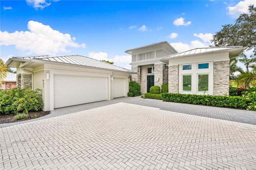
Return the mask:
POLYGON ((107 77, 54 75, 54 109, 107 99, 107 77))

